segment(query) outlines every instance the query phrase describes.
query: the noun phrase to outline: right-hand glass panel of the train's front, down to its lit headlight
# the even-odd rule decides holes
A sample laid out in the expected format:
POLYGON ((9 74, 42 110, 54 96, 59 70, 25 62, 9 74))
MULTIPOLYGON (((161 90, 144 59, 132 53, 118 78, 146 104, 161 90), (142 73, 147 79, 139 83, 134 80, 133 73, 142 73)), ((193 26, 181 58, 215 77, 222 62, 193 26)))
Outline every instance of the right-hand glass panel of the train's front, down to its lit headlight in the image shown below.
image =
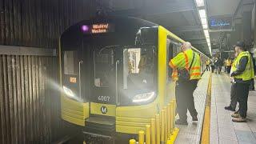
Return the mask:
POLYGON ((132 103, 151 102, 155 97, 156 54, 154 46, 123 49, 123 94, 132 103))

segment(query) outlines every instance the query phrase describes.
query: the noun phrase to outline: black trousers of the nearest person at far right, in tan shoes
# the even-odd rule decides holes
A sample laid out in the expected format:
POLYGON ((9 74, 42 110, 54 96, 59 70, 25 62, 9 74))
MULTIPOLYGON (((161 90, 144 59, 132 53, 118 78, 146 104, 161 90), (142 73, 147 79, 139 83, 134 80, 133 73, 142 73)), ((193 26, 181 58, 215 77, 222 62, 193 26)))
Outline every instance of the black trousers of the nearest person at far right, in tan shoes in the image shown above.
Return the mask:
POLYGON ((246 118, 247 114, 247 101, 249 94, 249 86, 250 84, 246 83, 235 83, 235 94, 238 98, 239 102, 239 114, 242 118, 246 118))

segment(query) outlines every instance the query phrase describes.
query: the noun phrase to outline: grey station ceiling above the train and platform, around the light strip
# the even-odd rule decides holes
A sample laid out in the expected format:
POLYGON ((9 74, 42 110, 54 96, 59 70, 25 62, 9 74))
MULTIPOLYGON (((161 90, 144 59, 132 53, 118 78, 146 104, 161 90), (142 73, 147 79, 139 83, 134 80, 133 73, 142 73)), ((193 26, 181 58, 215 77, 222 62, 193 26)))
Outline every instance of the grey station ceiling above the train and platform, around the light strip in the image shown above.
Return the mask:
MULTIPOLYGON (((210 55, 206 38, 198 15, 196 0, 114 0, 113 10, 117 14, 135 16, 158 23, 177 34, 180 38, 189 41, 198 50, 210 55)), ((231 17, 233 27, 241 23, 242 3, 251 0, 205 0, 206 14, 210 17, 231 17), (240 20, 239 20, 240 19, 240 20)), ((242 31, 238 31, 237 34, 242 31)), ((232 46, 231 31, 210 30, 212 49, 226 49, 232 46)))

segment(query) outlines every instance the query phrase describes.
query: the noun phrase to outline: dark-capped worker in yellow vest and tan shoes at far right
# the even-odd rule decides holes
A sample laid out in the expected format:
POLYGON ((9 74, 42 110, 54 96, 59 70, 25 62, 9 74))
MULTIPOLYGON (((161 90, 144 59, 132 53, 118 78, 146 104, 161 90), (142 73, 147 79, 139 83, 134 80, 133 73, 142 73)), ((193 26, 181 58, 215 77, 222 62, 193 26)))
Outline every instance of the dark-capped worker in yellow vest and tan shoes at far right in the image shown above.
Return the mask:
POLYGON ((239 110, 231 116, 233 122, 246 122, 249 86, 252 78, 254 78, 254 66, 244 42, 237 42, 235 52, 238 57, 234 60, 234 70, 230 76, 234 78, 234 94, 238 98, 239 110))

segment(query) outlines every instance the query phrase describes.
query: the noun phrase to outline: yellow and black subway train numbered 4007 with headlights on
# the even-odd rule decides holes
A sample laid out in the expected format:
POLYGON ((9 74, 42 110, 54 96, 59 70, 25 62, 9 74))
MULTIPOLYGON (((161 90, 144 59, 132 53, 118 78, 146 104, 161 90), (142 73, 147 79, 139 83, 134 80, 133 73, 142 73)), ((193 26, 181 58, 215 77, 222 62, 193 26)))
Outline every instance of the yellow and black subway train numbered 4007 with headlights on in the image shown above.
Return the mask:
MULTIPOLYGON (((139 18, 95 18, 70 26, 58 49, 62 119, 80 126, 86 143, 134 137, 174 98, 168 63, 182 42, 139 18)), ((205 63, 206 55, 193 50, 205 63)))

